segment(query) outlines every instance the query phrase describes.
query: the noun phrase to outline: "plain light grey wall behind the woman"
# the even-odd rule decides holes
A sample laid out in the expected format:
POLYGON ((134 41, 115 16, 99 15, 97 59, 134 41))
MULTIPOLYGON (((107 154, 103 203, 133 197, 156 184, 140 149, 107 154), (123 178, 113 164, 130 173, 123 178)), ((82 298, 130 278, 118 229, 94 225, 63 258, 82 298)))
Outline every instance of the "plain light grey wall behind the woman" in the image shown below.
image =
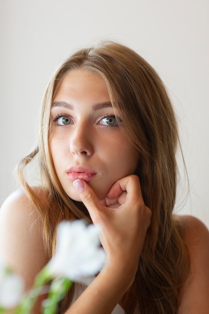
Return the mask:
POLYGON ((190 181, 185 202, 179 185, 176 210, 209 226, 208 16, 208 0, 0 0, 0 205, 34 143, 51 74, 77 48, 111 39, 141 54, 168 87, 190 181))

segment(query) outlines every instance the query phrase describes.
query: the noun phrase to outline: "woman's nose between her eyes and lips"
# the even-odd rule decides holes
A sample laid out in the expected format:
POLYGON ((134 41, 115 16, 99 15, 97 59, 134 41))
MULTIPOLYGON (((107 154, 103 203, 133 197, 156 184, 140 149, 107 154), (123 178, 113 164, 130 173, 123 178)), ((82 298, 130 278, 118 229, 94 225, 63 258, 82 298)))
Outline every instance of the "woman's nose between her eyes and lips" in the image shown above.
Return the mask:
POLYGON ((90 128, 84 123, 74 127, 70 138, 70 150, 73 155, 91 156, 93 153, 93 141, 90 128))

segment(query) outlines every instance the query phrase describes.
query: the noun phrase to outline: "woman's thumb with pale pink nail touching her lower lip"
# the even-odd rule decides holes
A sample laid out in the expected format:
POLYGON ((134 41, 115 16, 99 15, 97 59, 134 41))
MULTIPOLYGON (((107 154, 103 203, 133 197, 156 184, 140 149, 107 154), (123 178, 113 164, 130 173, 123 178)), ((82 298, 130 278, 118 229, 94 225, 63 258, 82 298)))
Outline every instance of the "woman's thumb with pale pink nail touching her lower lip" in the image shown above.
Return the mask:
POLYGON ((73 182, 73 185, 92 218, 93 212, 101 207, 95 192, 84 180, 77 179, 73 182))

